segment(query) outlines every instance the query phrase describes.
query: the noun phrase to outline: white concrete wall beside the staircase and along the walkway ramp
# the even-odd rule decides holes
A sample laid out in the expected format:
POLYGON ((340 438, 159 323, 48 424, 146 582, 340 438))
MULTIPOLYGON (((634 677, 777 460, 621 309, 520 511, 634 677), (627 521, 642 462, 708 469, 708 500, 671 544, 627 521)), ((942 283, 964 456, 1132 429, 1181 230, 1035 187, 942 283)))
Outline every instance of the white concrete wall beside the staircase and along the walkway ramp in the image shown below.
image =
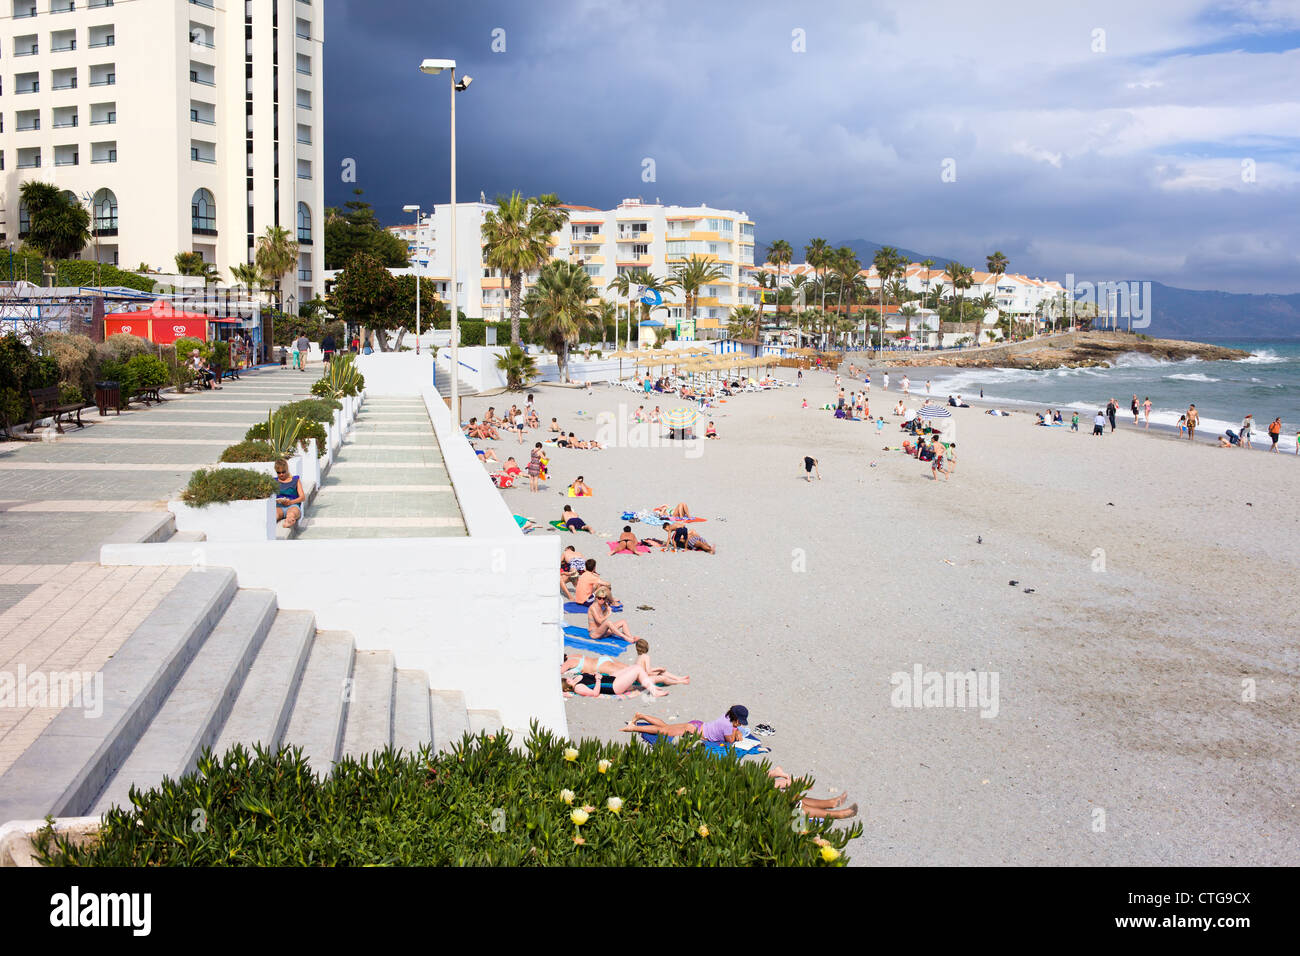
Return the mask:
POLYGON ((424 398, 468 537, 105 545, 100 562, 234 568, 239 587, 269 588, 281 607, 313 611, 317 628, 350 631, 358 648, 391 650, 398 667, 463 691, 469 708, 500 711, 520 741, 532 719, 567 734, 559 538, 520 533, 437 392, 400 390, 428 356, 364 360, 376 360, 374 388, 363 367, 368 397, 424 398))

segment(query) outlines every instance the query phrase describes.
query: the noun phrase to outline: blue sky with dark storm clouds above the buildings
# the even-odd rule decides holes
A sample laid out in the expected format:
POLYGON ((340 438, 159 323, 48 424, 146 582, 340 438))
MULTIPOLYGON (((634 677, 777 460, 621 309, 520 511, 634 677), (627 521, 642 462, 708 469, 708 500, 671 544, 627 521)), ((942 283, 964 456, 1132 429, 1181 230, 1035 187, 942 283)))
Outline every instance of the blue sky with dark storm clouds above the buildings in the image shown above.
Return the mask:
POLYGON ((326 202, 361 187, 386 222, 447 199, 447 81, 417 70, 437 56, 474 78, 462 199, 707 202, 749 212, 760 242, 1300 290, 1297 0, 325 10, 326 202))

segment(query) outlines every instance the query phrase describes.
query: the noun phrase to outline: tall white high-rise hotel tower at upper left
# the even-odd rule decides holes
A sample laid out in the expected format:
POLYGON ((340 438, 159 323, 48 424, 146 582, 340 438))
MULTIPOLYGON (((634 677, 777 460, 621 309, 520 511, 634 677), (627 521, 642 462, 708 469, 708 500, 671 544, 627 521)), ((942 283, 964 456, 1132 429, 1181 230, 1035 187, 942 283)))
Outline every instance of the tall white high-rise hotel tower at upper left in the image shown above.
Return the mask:
POLYGON ((82 254, 221 280, 268 226, 300 245, 282 289, 322 286, 322 0, 0 0, 0 242, 20 187, 90 207, 82 254))

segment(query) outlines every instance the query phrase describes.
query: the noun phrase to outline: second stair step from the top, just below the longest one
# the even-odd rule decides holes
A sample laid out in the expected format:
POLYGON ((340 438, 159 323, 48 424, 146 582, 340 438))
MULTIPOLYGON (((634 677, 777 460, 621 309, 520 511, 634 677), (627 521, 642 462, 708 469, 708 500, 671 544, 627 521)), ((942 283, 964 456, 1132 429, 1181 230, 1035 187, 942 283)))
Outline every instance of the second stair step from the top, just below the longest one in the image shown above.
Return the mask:
POLYGON ((220 734, 274 618, 274 592, 235 593, 92 813, 130 806, 131 786, 156 787, 164 777, 178 779, 194 769, 220 734))

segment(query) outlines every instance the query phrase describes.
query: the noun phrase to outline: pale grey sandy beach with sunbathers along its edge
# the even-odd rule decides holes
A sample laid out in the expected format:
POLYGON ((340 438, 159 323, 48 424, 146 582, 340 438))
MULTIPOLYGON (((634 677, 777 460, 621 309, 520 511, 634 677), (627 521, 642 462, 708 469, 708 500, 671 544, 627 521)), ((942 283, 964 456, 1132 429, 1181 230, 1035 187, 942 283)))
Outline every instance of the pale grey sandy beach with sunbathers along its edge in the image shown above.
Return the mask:
MULTIPOLYGON (((603 385, 534 394, 578 438, 641 403, 603 385)), ((554 449, 549 488, 503 492, 538 522, 576 505, 598 533, 563 537, 597 558, 653 661, 692 678, 655 701, 572 698, 571 735, 744 704, 776 728, 768 760, 858 803, 855 864, 1300 862, 1300 462, 1152 440, 1123 416, 1095 438, 1091 420, 965 408, 958 470, 936 483, 881 450, 904 437, 897 390, 871 393, 883 437, 800 407, 833 395, 831 373, 805 373, 707 412, 716 442, 554 449), (593 498, 562 497, 577 475, 593 498), (677 501, 716 555, 607 554, 621 511, 677 501), (890 676, 918 665, 996 675, 996 715, 893 706, 890 676)), ((464 418, 523 398, 465 399, 464 418)), ((482 445, 526 464, 541 437, 482 445)))

